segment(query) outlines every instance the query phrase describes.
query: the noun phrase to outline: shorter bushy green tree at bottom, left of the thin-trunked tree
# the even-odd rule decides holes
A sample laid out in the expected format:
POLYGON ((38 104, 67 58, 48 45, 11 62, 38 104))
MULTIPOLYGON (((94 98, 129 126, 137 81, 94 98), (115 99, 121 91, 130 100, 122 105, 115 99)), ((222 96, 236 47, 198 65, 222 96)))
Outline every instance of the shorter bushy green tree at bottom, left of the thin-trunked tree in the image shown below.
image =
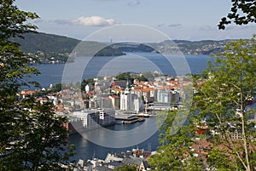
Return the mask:
MULTIPOLYGON (((175 122, 177 115, 177 111, 168 112, 164 123, 161 125, 160 147, 157 154, 149 158, 150 166, 160 171, 201 170, 203 168, 201 158, 194 157, 194 151, 191 151, 190 148, 194 143, 193 132, 195 127, 193 124, 185 124, 180 129, 174 128, 176 126, 173 122, 175 122), (175 130, 177 130, 177 133, 172 134, 175 130)), ((192 118, 191 116, 188 118, 188 123, 192 122, 192 118)))

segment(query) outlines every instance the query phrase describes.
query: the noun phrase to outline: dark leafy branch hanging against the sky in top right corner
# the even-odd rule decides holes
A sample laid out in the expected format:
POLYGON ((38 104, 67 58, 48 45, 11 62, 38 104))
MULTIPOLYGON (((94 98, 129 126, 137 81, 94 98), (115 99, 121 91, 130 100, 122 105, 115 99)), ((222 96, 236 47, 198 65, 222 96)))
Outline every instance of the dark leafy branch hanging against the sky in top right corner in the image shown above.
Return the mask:
POLYGON ((231 0, 232 8, 227 17, 223 17, 218 24, 218 29, 225 29, 226 25, 234 22, 236 25, 247 25, 256 23, 256 1, 255 0, 231 0))

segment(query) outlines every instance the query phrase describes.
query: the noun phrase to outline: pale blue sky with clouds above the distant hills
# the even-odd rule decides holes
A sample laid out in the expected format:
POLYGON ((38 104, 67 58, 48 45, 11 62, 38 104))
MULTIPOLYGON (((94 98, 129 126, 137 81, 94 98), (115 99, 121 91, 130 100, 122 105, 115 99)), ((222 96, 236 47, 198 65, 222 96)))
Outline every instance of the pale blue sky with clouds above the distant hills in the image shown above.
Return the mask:
POLYGON ((80 40, 109 26, 152 27, 179 40, 250 38, 256 26, 230 25, 218 30, 230 12, 230 0, 17 0, 19 9, 35 12, 38 31, 80 40))

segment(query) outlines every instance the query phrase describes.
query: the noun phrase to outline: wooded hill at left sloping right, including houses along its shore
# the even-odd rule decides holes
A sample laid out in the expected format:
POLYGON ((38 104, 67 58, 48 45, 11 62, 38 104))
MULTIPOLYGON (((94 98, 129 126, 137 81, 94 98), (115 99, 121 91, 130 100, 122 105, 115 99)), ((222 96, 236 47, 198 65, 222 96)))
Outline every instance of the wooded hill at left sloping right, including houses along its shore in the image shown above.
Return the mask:
POLYGON ((16 37, 13 41, 20 43, 20 49, 22 51, 37 59, 32 60, 31 64, 64 63, 68 60, 73 50, 78 52, 76 53, 77 55, 88 56, 113 56, 124 54, 117 48, 106 47, 104 43, 81 42, 78 39, 54 34, 39 32, 25 34, 23 37, 24 39, 16 37), (87 48, 84 48, 84 46, 87 48), (86 49, 86 52, 84 52, 84 49, 86 49))

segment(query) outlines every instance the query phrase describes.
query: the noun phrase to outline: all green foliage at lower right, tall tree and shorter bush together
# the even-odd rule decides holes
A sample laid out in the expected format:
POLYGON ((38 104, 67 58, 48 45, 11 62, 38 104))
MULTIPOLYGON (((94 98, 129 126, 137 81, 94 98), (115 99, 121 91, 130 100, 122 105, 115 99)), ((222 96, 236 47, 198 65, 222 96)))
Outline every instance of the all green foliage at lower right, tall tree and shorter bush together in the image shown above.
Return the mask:
POLYGON ((187 123, 177 134, 169 134, 177 115, 172 112, 162 126, 162 145, 150 159, 156 170, 253 170, 255 111, 248 98, 256 93, 255 54, 255 36, 231 42, 209 63, 200 81, 196 77, 187 123))

